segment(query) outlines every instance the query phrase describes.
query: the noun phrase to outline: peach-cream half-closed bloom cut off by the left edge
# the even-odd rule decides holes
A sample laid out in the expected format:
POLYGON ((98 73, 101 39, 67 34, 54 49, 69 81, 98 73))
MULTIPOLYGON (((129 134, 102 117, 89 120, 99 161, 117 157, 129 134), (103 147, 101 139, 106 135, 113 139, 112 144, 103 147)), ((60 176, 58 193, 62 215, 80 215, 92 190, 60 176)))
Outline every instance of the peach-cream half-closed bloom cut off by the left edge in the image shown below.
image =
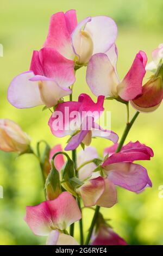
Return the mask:
POLYGON ((25 153, 30 149, 30 138, 14 121, 0 119, 0 149, 25 153))

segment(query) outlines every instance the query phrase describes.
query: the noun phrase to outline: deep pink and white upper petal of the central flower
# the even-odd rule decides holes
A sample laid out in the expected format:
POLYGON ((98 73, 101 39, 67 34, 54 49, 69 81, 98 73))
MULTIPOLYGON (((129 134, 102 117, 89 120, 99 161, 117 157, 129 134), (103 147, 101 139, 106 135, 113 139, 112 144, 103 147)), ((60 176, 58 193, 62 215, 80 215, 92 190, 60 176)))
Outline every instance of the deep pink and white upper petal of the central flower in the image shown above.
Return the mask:
POLYGON ((89 112, 90 115, 93 115, 94 119, 99 118, 101 113, 104 111, 103 102, 103 96, 99 96, 97 99, 97 103, 95 103, 92 101, 89 95, 80 94, 78 101, 59 103, 48 122, 48 125, 51 127, 53 135, 57 137, 73 135, 75 131, 70 130, 71 122, 77 120, 79 129, 80 125, 82 124, 82 119, 85 118, 87 112, 89 112), (62 126, 60 125, 58 127, 57 123, 62 124, 62 126))

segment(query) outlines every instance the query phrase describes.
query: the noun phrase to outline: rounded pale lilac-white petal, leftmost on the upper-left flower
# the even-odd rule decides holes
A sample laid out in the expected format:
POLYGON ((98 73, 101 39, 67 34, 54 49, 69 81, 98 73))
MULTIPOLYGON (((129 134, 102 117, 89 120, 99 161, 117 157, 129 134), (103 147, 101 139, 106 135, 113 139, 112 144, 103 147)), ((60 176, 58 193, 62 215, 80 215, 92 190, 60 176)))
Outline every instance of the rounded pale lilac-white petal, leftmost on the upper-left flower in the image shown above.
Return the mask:
POLYGON ((38 82, 30 81, 32 71, 16 76, 8 88, 8 101, 17 108, 30 108, 43 104, 40 97, 38 82))

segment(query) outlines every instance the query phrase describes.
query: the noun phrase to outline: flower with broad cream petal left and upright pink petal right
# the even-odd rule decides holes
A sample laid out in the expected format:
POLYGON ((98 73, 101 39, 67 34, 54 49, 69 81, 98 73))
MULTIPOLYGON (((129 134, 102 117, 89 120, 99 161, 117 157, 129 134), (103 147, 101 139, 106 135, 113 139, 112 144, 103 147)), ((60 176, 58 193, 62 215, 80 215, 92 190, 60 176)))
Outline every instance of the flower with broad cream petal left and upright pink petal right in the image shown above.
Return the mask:
POLYGON ((117 70, 117 51, 112 49, 109 57, 105 53, 93 55, 87 66, 86 81, 96 96, 104 95, 121 98, 124 101, 135 99, 142 92, 142 80, 146 74, 147 56, 140 51, 136 54, 127 75, 120 81, 117 70))

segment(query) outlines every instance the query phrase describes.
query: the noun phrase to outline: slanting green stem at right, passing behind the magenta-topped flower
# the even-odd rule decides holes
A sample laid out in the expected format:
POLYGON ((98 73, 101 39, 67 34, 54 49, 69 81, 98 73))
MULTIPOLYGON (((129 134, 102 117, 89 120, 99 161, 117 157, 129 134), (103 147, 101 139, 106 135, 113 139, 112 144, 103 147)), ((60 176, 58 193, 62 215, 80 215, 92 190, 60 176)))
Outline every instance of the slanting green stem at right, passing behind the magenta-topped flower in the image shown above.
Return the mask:
MULTIPOLYGON (((128 108, 127 108, 127 112, 128 112, 128 108)), ((129 112, 128 112, 129 113, 129 112)), ((124 141, 126 140, 127 138, 127 135, 131 129, 131 127, 133 126, 136 118, 138 117, 140 112, 136 112, 134 117, 131 119, 130 123, 127 122, 126 124, 126 128, 124 129, 124 132, 123 132, 123 135, 122 135, 122 138, 121 138, 121 141, 120 143, 118 144, 118 147, 117 147, 117 150, 116 150, 116 153, 120 152, 121 151, 121 148, 123 147, 123 144, 124 144, 124 141)), ((128 114, 127 114, 128 115, 128 114)), ((98 213, 99 213, 99 209, 100 209, 100 206, 96 206, 96 210, 95 210, 95 214, 93 216, 93 220, 92 220, 92 223, 91 223, 91 227, 89 229, 89 234, 87 235, 87 239, 86 239, 86 242, 85 242, 85 245, 89 245, 89 242, 90 242, 90 239, 91 239, 91 235, 92 235, 92 231, 93 231, 93 228, 94 228, 94 225, 96 223, 96 219, 97 219, 97 216, 98 216, 98 213)))

